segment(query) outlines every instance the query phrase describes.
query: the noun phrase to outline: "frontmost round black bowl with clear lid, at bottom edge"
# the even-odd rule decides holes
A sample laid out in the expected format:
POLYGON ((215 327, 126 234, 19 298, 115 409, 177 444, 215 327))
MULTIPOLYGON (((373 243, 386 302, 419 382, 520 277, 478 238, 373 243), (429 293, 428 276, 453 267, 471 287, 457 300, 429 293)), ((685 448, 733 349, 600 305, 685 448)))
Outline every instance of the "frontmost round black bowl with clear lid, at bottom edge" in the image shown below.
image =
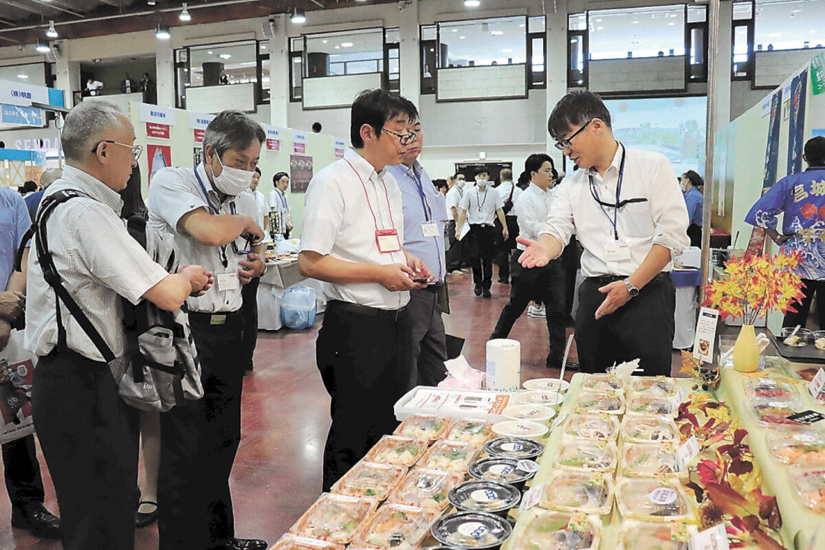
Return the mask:
POLYGON ((494 548, 510 538, 511 533, 506 519, 484 512, 448 514, 432 526, 432 536, 438 542, 460 550, 494 548))

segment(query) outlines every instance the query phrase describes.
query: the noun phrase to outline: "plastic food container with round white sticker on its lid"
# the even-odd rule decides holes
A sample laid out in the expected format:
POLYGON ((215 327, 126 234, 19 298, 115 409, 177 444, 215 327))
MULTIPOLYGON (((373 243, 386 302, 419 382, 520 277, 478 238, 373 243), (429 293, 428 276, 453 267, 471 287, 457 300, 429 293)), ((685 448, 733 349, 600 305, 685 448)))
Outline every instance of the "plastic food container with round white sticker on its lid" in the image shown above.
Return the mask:
POLYGON ((623 518, 692 520, 694 511, 676 477, 619 477, 616 503, 623 518))

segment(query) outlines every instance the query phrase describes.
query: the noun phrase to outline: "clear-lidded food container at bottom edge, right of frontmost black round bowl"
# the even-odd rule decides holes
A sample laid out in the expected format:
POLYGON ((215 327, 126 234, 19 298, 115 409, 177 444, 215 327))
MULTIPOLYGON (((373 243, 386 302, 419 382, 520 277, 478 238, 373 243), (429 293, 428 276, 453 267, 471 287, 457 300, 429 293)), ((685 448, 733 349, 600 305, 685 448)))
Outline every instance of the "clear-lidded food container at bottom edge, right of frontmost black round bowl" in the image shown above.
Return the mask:
POLYGON ((571 521, 568 512, 530 508, 519 517, 512 550, 586 550, 599 548, 601 518, 584 515, 583 522, 571 521), (523 516, 523 519, 522 519, 523 516))

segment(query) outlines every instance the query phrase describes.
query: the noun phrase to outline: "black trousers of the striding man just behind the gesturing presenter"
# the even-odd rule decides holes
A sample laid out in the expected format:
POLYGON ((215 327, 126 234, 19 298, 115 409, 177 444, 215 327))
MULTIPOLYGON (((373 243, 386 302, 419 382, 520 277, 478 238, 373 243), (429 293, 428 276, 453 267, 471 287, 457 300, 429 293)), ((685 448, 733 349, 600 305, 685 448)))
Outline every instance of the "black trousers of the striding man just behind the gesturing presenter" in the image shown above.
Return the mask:
POLYGON ((544 303, 549 350, 546 366, 560 369, 564 357, 564 273, 561 261, 554 260, 544 267, 526 268, 512 261, 510 300, 498 316, 490 338, 507 338, 513 323, 524 313, 530 300, 544 303))

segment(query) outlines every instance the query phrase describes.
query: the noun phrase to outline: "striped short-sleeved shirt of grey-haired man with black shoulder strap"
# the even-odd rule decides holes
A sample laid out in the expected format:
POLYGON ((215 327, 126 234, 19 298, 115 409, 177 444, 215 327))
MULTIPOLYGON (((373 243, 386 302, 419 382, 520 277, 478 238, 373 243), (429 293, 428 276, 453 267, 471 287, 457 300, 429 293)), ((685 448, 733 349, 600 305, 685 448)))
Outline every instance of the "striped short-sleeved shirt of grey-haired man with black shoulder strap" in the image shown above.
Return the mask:
MULTIPOLYGON (((54 266, 68 294, 101 333, 112 353, 120 357, 125 352, 126 340, 119 297, 138 303, 148 289, 168 274, 126 231, 118 215, 123 200, 115 190, 70 166, 64 167, 63 177, 49 186, 45 196, 63 189, 80 190, 92 199, 68 200, 51 214, 47 228, 54 266)), ((29 254, 28 266, 26 349, 42 356, 57 345, 54 290, 43 279, 34 250, 29 254)), ((60 318, 69 349, 102 361, 97 347, 62 302, 60 318)))

